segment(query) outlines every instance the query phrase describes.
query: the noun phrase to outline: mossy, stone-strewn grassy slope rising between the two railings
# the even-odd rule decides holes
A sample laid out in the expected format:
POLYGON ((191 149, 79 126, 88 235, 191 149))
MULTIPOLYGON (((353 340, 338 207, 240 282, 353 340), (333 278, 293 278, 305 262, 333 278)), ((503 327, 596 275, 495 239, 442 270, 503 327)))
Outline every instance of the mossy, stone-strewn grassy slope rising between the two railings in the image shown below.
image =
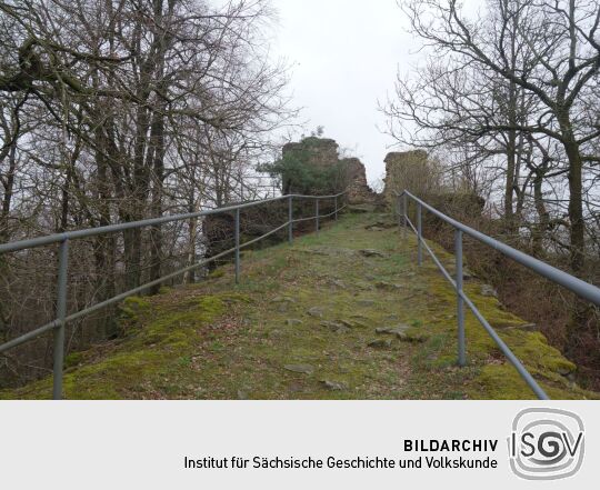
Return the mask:
MULTIPOLYGON (((452 257, 432 244, 451 264, 452 257)), ((530 399, 467 313, 469 366, 456 367, 456 299, 388 214, 347 214, 319 236, 242 257, 191 287, 121 307, 119 341, 68 357, 69 399, 530 399), (389 331, 387 331, 389 330, 389 331)), ((598 398, 526 322, 466 290, 552 398, 598 398)), ((49 398, 51 379, 0 392, 49 398)))

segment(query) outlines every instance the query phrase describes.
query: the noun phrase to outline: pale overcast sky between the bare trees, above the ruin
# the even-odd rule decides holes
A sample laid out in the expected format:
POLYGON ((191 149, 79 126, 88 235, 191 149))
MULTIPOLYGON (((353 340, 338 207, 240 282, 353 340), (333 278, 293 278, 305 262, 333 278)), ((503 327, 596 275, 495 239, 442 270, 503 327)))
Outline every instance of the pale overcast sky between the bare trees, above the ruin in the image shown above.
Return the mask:
POLYGON ((378 130, 378 111, 393 91, 398 68, 417 61, 418 41, 407 33, 396 0, 272 0, 279 12, 273 47, 292 66, 293 103, 307 129, 324 126, 360 157, 372 181, 384 172, 393 140, 378 130))

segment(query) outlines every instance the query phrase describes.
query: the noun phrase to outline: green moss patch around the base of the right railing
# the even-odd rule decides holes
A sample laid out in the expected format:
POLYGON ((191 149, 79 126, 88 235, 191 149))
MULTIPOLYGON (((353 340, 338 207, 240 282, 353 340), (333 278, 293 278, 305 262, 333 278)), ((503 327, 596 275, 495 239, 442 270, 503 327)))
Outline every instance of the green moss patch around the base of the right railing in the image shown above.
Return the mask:
MULTIPOLYGON (((430 246, 448 266, 452 257, 434 243, 430 246)), ((423 359, 430 368, 443 368, 456 364, 457 359, 457 319, 456 292, 441 278, 432 264, 423 266, 422 274, 427 277, 427 291, 437 306, 430 309, 436 316, 429 321, 436 336, 424 346, 414 362, 423 366, 423 359), (443 307, 443 308, 442 308, 443 307)), ((576 366, 566 359, 561 352, 549 346, 541 332, 520 330, 526 321, 503 309, 501 303, 492 297, 480 293, 481 283, 469 281, 466 291, 473 300, 479 311, 494 327, 501 339, 512 352, 521 360, 526 368, 542 384, 552 398, 590 398, 593 393, 584 392, 568 381, 562 374, 576 370, 576 366)), ((424 311, 424 306, 423 310, 424 311)), ((469 398, 483 399, 529 399, 534 397, 531 389, 522 381, 511 364, 477 318, 467 310, 466 339, 468 362, 472 368, 469 381, 466 383, 464 394, 469 398)))

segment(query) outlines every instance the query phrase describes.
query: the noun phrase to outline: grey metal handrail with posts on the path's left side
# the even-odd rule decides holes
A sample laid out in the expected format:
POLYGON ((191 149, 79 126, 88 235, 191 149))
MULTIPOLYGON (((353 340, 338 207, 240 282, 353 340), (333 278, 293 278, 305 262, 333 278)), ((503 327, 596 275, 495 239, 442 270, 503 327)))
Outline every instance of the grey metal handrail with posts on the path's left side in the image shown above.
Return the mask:
POLYGON ((287 194, 287 196, 280 196, 277 198, 270 198, 270 199, 262 199, 258 201, 251 201, 251 202, 244 202, 241 204, 236 206, 227 206, 223 208, 216 208, 216 209, 208 209, 203 211, 198 212, 190 212, 184 214, 172 214, 172 216, 166 216, 160 218, 151 218, 147 220, 140 220, 140 221, 130 221, 126 223, 118 223, 118 224, 109 224, 104 227, 98 227, 98 228, 88 228, 83 230, 73 230, 73 231, 67 231, 63 233, 54 233, 43 237, 37 237, 31 238, 27 240, 20 240, 9 243, 2 243, 0 244, 0 253, 7 253, 7 252, 14 252, 19 250, 36 248, 36 247, 42 247, 47 244, 52 243, 60 243, 60 250, 59 250, 59 266, 58 266, 58 284, 57 284, 57 291, 58 291, 58 298, 57 298, 57 318, 49 323, 46 323, 42 327, 39 327, 34 330, 31 330, 20 337, 17 337, 12 340, 9 340, 8 342, 4 342, 0 344, 0 353, 8 351, 9 349, 12 349, 17 346, 20 346, 24 342, 28 342, 30 340, 33 340, 41 334, 53 331, 54 338, 53 338, 53 349, 52 349, 52 398, 56 400, 59 400, 62 398, 62 374, 63 374, 63 364, 64 364, 64 328, 66 324, 70 321, 77 320, 78 318, 81 318, 86 314, 92 313, 94 311, 101 310, 102 308, 106 308, 110 304, 114 304, 119 301, 122 301, 123 299, 137 294, 139 292, 142 292, 147 290, 148 288, 160 284, 161 282, 164 282, 169 279, 172 279, 174 277, 181 276, 184 272, 198 269, 202 266, 206 266, 209 262, 212 262, 217 259, 220 259, 221 257, 228 256, 230 253, 234 253, 234 262, 236 262, 236 283, 239 283, 240 281, 240 250, 244 247, 248 247, 252 243, 256 243, 282 229, 286 227, 288 228, 288 241, 291 243, 293 241, 293 223, 297 223, 299 221, 306 221, 306 220, 314 220, 316 222, 316 231, 319 232, 319 220, 322 218, 328 218, 330 216, 333 216, 334 219, 338 219, 338 213, 346 208, 346 204, 338 207, 338 200, 342 196, 344 196, 348 192, 348 190, 344 190, 343 192, 331 194, 331 196, 303 196, 303 194, 287 194), (281 200, 288 200, 288 221, 286 221, 283 224, 280 224, 279 227, 276 227, 274 229, 268 231, 267 233, 254 238, 252 240, 249 240, 247 242, 240 243, 240 210, 251 208, 254 206, 266 204, 269 202, 274 201, 281 201, 281 200), (293 200, 294 199, 313 199, 314 200, 314 208, 316 208, 316 214, 309 218, 302 218, 302 219, 293 219, 293 200), (319 202, 321 200, 328 200, 333 199, 334 200, 334 210, 331 213, 328 214, 320 214, 319 213, 319 202), (92 304, 91 307, 84 308, 83 310, 77 311, 72 314, 67 316, 67 280, 68 280, 68 267, 69 267, 69 241, 78 238, 87 238, 87 237, 96 237, 98 234, 102 233, 113 233, 118 231, 124 231, 124 230, 131 230, 136 228, 143 228, 143 227, 151 227, 156 224, 162 224, 168 223, 172 221, 182 221, 182 220, 189 220, 193 218, 199 218, 203 216, 210 216, 210 214, 218 214, 223 212, 234 212, 236 213, 236 221, 234 221, 234 242, 236 246, 233 248, 230 248, 228 250, 224 250, 213 257, 209 257, 207 259, 203 259, 199 262, 196 262, 191 266, 188 266, 183 269, 177 270, 174 272, 170 272, 167 276, 163 276, 159 279, 154 279, 150 282, 147 282, 142 286, 138 286, 137 288, 130 289, 126 292, 122 292, 120 294, 117 294, 112 298, 109 298, 104 301, 101 301, 99 303, 92 304))

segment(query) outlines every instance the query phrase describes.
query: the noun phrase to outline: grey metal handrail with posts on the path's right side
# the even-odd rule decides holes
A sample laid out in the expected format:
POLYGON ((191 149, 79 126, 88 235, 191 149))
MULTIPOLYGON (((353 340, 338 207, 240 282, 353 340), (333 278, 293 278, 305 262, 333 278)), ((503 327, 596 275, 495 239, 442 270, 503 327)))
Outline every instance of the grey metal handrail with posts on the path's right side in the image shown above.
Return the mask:
POLYGON ((436 263, 436 266, 438 267, 438 269, 440 269, 443 277, 448 280, 448 282, 450 282, 450 284, 452 284, 452 288, 457 291, 458 364, 460 367, 463 367, 467 363, 466 362, 466 340, 464 340, 464 304, 467 304, 469 309, 473 312, 478 321, 481 323, 481 326, 486 329, 488 334, 496 342, 498 348, 502 351, 502 353, 507 357, 510 363, 519 372, 519 374, 526 381, 529 388, 531 388, 531 390, 536 393, 536 396, 540 400, 549 400, 548 394, 538 384, 538 382, 533 379, 531 373, 524 368, 521 361, 514 356, 514 353, 504 343, 504 341, 500 338, 500 336, 498 336, 493 327, 488 322, 488 320, 486 320, 483 314, 481 314, 479 309, 473 304, 471 299, 467 296, 467 293, 462 289, 462 280, 463 280, 463 277, 462 277, 463 276, 462 274, 462 234, 466 233, 474 238, 476 240, 493 248, 494 250, 498 250, 499 252, 503 253, 504 256, 509 257, 516 262, 519 262, 520 264, 531 269, 537 274, 543 278, 547 278, 557 284, 563 286, 564 288, 591 301, 592 303, 597 306, 600 306, 600 288, 597 288, 596 286, 590 284, 589 282, 582 281, 581 279, 578 279, 564 271, 561 271, 560 269, 557 269, 546 262, 542 262, 541 260, 538 260, 531 256, 528 256, 527 253, 523 253, 517 249, 513 249, 512 247, 509 247, 506 243, 502 243, 491 237, 488 237, 487 234, 481 233, 480 231, 477 231, 461 223, 460 221, 457 221, 446 216, 444 213, 437 210, 436 208, 428 204, 427 202, 422 201, 421 199, 417 198, 416 196, 413 196, 406 189, 402 192, 394 191, 394 193, 397 196, 396 211, 399 219, 398 224, 400 226, 400 218, 402 218, 403 220, 402 232, 404 233, 404 230, 408 228, 408 226, 410 226, 414 234, 417 234, 418 264, 421 266, 422 263, 422 249, 424 248, 426 251, 431 257, 431 259, 433 260, 433 262, 436 263), (417 227, 414 227, 414 224, 408 217, 407 198, 411 199, 417 204, 417 227), (402 211, 400 211, 400 208, 402 209, 402 211), (447 222, 454 229, 456 279, 452 279, 450 273, 446 270, 446 268, 442 266, 440 260, 436 257, 431 248, 423 240, 422 219, 421 219, 422 208, 427 209, 437 218, 447 222))

